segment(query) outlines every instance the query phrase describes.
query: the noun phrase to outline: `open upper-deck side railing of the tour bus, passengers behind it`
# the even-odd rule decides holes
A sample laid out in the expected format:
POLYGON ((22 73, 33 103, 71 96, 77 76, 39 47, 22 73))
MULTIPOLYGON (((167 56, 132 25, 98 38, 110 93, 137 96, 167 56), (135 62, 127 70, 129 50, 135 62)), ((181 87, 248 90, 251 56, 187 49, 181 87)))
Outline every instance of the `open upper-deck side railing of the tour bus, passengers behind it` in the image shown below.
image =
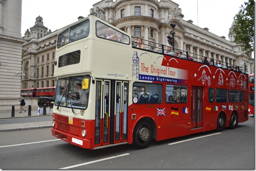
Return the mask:
POLYGON ((191 53, 191 52, 173 48, 171 46, 167 46, 164 44, 159 44, 159 43, 143 40, 138 37, 132 37, 132 40, 133 40, 132 41, 133 48, 150 51, 150 52, 158 53, 158 54, 162 54, 162 55, 170 55, 173 57, 179 57, 179 58, 183 58, 185 60, 190 60, 190 61, 194 61, 194 62, 201 62, 204 64, 221 67, 222 69, 227 69, 227 70, 237 71, 237 72, 247 74, 247 68, 245 65, 241 65, 241 66, 234 65, 234 64, 231 64, 228 62, 220 61, 219 59, 212 59, 212 58, 209 58, 206 56, 202 56, 200 54, 191 53), (138 39, 140 39, 142 42, 138 43, 138 41, 137 41, 138 39))

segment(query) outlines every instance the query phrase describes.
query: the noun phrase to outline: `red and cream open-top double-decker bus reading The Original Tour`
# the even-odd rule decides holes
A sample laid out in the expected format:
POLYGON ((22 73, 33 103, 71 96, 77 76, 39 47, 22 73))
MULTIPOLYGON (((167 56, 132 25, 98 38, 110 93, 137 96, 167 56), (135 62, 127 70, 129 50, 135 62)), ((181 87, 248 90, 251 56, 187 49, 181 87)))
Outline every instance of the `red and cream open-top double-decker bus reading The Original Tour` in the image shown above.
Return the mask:
POLYGON ((64 28, 56 48, 51 131, 72 145, 146 148, 248 120, 245 69, 202 63, 179 49, 167 53, 167 46, 139 41, 93 15, 64 28))

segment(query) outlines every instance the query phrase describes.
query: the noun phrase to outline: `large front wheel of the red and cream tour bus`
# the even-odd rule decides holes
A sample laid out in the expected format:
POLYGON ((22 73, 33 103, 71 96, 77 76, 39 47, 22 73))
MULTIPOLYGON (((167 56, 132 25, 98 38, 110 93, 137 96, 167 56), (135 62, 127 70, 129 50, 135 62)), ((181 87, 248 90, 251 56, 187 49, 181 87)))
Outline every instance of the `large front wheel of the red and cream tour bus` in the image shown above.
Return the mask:
POLYGON ((152 127, 148 122, 137 123, 133 133, 133 146, 137 149, 148 147, 152 141, 152 133, 152 127))

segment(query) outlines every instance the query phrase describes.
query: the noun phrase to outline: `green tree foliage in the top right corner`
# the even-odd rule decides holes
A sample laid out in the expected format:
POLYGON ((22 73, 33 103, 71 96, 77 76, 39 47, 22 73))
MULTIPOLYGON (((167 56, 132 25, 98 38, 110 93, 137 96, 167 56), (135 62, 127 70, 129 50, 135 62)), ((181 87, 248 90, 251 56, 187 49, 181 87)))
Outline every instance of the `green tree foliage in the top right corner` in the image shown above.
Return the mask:
POLYGON ((235 25, 231 33, 235 33, 235 43, 241 45, 242 51, 252 52, 254 49, 254 1, 248 0, 241 5, 235 15, 235 25))

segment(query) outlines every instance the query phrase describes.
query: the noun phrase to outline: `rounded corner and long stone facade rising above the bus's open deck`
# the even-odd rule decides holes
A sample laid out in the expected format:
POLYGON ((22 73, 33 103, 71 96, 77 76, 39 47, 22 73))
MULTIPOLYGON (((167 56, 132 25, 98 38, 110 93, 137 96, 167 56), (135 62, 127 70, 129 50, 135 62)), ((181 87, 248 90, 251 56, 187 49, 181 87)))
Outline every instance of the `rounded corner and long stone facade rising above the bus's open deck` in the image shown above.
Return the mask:
MULTIPOLYGON (((230 65, 246 66, 248 74, 254 72, 251 53, 241 52, 234 35, 218 37, 208 28, 182 18, 179 5, 170 0, 103 0, 93 5, 90 14, 98 16, 132 36, 168 45, 167 36, 175 24, 175 48, 219 59, 230 65)), ((231 25, 233 28, 234 22, 231 25)), ((229 30, 227 30, 228 32, 229 30)), ((199 57, 199 56, 196 56, 199 57)))

